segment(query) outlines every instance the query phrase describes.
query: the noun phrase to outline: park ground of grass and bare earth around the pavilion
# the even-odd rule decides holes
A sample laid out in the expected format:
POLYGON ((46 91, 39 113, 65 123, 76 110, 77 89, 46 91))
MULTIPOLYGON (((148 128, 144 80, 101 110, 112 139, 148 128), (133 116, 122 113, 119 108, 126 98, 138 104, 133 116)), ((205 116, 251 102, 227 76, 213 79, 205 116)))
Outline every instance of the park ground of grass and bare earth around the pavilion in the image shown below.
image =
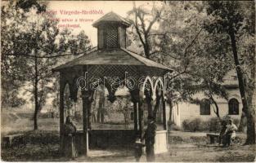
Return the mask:
MULTIPOLYGON (((155 161, 255 161, 255 145, 244 146, 242 143, 245 136, 238 134, 238 142, 230 148, 222 148, 218 144, 209 144, 205 133, 171 131, 168 152, 156 155, 155 161)), ((2 149, 2 161, 67 161, 60 155, 58 143, 36 142, 37 140, 23 146, 2 149)), ((132 154, 131 148, 92 149, 88 157, 79 156, 75 161, 131 162, 134 161, 132 154)), ((141 157, 141 161, 146 161, 145 155, 141 157)))

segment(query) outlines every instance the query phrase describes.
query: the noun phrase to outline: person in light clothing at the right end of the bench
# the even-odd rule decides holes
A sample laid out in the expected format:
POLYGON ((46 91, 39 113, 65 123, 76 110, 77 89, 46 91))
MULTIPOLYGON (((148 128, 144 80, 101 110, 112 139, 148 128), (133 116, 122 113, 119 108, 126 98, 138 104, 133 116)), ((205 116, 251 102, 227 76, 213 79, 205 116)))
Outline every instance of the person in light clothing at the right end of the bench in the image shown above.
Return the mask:
POLYGON ((231 145, 231 141, 236 138, 236 130, 237 127, 233 123, 232 119, 227 120, 227 130, 225 131, 225 143, 223 144, 224 147, 228 147, 231 145))

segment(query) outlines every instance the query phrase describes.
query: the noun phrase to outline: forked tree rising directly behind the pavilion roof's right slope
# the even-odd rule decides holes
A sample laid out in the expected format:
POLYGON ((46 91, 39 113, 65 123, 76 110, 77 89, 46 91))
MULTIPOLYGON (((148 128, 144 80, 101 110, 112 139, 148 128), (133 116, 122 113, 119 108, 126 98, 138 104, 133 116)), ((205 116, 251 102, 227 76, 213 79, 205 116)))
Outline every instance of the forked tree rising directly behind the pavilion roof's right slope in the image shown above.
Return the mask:
MULTIPOLYGON (((153 3, 151 11, 147 11, 147 9, 143 7, 134 6, 133 10, 129 12, 130 15, 134 15, 132 22, 137 34, 133 36, 133 41, 136 42, 137 45, 142 45, 146 58, 154 59, 161 64, 166 64, 176 71, 177 74, 172 78, 175 91, 169 90, 167 93, 168 103, 170 106, 173 106, 174 101, 191 99, 193 90, 195 90, 195 87, 192 86, 193 80, 187 80, 190 79, 191 76, 185 73, 190 69, 189 67, 191 62, 195 59, 195 54, 200 53, 200 51, 192 47, 196 39, 200 36, 202 29, 197 28, 198 25, 194 25, 194 30, 191 30, 191 26, 190 28, 186 26, 185 32, 188 34, 184 34, 184 30, 182 30, 184 27, 182 25, 182 28, 180 28, 180 24, 173 25, 173 21, 175 22, 177 20, 175 17, 175 20, 173 20, 173 16, 170 15, 170 12, 176 8, 173 6, 166 7, 161 3, 157 5, 160 5, 160 7, 156 7, 156 4, 153 3), (146 24, 149 25, 146 27, 146 24), (159 28, 153 29, 153 24, 158 25, 159 28), (172 25, 176 28, 175 31, 170 29, 170 27, 173 27, 172 25), (177 39, 174 40, 173 38, 177 39), (177 45, 175 45, 173 41, 177 41, 177 45), (182 91, 181 85, 186 91, 182 91), (176 97, 176 99, 173 99, 173 97, 176 97)), ((182 5, 179 6, 179 9, 181 9, 180 12, 184 10, 182 5)), ((194 22, 194 24, 196 23, 194 22)), ((199 50, 201 49, 199 48, 199 50)), ((148 108, 148 119, 154 120, 161 98, 160 92, 157 92, 155 102, 153 102, 151 99, 151 91, 152 90, 146 91, 146 104, 148 108)), ((172 111, 170 111, 170 113, 171 112, 172 111)))

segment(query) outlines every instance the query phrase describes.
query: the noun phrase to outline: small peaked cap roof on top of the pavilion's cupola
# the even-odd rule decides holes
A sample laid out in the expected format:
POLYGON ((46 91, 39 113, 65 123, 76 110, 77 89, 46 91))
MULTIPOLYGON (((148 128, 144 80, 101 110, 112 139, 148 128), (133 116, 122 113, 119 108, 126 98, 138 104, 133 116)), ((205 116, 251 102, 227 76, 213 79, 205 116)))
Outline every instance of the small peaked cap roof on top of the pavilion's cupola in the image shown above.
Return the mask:
POLYGON ((128 27, 130 26, 130 22, 121 17, 120 15, 115 14, 115 12, 111 11, 109 13, 107 13, 106 15, 103 15, 99 20, 95 21, 95 23, 92 24, 93 27, 98 27, 100 24, 102 23, 106 23, 106 22, 115 22, 115 23, 119 23, 119 24, 124 24, 124 26, 128 27))

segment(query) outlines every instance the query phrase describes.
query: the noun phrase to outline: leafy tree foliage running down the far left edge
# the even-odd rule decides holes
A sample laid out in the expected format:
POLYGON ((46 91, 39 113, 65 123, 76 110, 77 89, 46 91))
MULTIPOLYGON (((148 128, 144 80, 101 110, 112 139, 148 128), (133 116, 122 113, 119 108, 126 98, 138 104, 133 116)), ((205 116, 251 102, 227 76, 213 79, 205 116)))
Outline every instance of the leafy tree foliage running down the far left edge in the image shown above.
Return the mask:
MULTIPOLYGON (((1 74, 2 74, 2 106, 6 107, 18 107, 22 104, 25 104, 25 99, 19 98, 19 87, 21 85, 25 85, 24 78, 20 75, 23 71, 25 71, 27 64, 22 57, 16 56, 8 56, 5 54, 13 53, 13 50, 16 47, 15 42, 11 42, 12 39, 16 39, 16 24, 22 25, 22 19, 17 19, 17 17, 22 18, 23 13, 19 10, 16 10, 13 5, 14 2, 10 2, 8 7, 2 7, 2 20, 1 20, 1 74), (8 10, 12 10, 13 12, 7 12, 8 10), (7 20, 12 20, 11 22, 7 22, 7 20), (16 24, 14 23, 16 21, 16 24), (9 26, 7 27, 7 23, 9 26), (9 29, 7 29, 9 28, 9 29), (16 66, 15 65, 19 65, 16 66)), ((29 71, 29 70, 27 70, 29 71)))

